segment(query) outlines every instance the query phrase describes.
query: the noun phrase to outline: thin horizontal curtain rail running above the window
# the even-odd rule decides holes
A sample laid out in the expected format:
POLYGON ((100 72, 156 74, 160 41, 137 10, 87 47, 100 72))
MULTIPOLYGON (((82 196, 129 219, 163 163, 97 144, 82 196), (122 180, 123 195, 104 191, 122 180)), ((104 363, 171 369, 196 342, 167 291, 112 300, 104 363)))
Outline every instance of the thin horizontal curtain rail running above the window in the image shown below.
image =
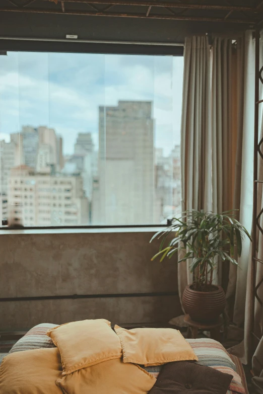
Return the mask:
POLYGON ((46 41, 46 42, 76 42, 89 44, 125 44, 125 45, 160 45, 160 46, 184 46, 176 42, 147 42, 147 41, 110 41, 110 40, 79 40, 69 38, 32 38, 32 37, 1 37, 0 40, 14 41, 46 41))

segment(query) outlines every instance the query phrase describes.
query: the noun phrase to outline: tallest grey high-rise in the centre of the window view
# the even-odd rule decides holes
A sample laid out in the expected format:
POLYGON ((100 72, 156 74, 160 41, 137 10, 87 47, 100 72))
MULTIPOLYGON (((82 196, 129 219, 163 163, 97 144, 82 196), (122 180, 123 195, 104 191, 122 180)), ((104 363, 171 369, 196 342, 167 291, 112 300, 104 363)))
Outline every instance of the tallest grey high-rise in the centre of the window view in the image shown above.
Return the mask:
POLYGON ((93 224, 154 221, 154 120, 151 102, 99 108, 99 166, 93 224))

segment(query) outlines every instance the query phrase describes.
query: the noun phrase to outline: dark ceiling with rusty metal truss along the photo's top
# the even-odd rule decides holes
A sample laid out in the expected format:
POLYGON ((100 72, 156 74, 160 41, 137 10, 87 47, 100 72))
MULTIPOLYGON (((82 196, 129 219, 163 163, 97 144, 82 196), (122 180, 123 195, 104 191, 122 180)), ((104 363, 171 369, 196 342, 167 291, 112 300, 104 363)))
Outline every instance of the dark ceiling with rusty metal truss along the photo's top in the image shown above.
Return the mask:
POLYGON ((223 22, 253 28, 263 20, 263 1, 0 0, 0 12, 223 22))

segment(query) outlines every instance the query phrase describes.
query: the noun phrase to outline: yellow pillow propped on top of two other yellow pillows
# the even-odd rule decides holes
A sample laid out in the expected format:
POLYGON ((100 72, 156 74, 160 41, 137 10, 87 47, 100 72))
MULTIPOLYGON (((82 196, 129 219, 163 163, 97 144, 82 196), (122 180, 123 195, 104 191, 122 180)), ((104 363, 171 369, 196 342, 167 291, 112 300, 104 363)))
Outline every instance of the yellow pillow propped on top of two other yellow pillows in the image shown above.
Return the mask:
POLYGON ((105 319, 62 324, 47 335, 60 352, 63 375, 122 356, 119 339, 105 319))

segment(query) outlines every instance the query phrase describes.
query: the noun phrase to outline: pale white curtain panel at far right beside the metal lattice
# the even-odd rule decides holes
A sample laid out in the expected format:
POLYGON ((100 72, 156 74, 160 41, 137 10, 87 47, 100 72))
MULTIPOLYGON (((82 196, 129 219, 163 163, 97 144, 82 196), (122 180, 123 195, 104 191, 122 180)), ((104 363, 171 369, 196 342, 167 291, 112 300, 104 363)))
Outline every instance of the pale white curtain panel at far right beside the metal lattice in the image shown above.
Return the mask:
MULTIPOLYGON (((253 208, 254 54, 252 31, 247 31, 244 39, 243 141, 242 150, 237 155, 237 166, 241 167, 241 178, 240 187, 236 190, 236 199, 239 199, 239 221, 248 231, 251 229, 253 208)), ((238 173, 240 174, 240 171, 238 173)), ((244 323, 245 309, 247 309, 245 294, 248 290, 250 247, 250 241, 247 238, 244 239, 242 256, 238 259, 239 267, 236 270, 233 322, 239 327, 244 323)))

